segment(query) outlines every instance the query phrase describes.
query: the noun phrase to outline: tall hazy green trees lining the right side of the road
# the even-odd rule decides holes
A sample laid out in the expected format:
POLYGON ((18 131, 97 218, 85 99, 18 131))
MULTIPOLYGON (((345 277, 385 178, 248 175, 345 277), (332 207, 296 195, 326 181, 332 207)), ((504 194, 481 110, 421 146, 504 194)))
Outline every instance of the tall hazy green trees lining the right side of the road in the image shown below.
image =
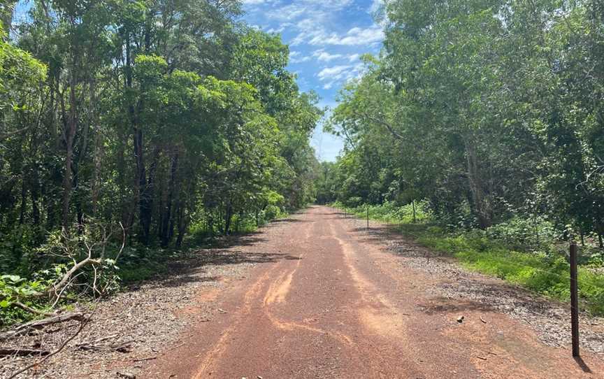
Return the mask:
POLYGON ((427 199, 452 227, 604 235, 604 4, 387 1, 380 57, 328 129, 319 201, 427 199), (522 221, 526 222, 522 222, 522 221))

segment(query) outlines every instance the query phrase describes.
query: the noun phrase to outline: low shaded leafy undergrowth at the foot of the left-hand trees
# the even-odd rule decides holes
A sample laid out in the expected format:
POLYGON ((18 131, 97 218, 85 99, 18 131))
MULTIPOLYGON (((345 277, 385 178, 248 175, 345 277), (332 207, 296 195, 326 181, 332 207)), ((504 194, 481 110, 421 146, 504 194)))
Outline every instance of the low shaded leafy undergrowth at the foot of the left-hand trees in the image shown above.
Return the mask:
MULTIPOLYGON (((257 217, 256 215, 235 215, 231 235, 249 234, 271 220, 287 216, 288 213, 276 206, 267 206, 257 217)), ((160 248, 159 246, 144 247, 137 244, 127 245, 120 249, 119 243, 104 244, 103 254, 106 256, 103 264, 97 267, 99 270, 95 271, 93 275, 90 267, 82 269, 75 277, 77 280, 73 285, 66 287, 66 291, 62 293, 56 303, 48 296, 39 296, 39 294, 45 292, 53 283, 57 283, 57 280, 71 269, 73 261, 81 260, 82 255, 85 256, 85 252, 80 251, 83 246, 83 240, 80 241, 82 236, 75 236, 74 241, 78 241, 72 243, 71 248, 74 250, 69 259, 68 256, 65 256, 57 259, 57 262, 50 266, 46 265, 50 268, 40 268, 38 266, 42 265, 36 264, 36 259, 48 259, 51 255, 58 257, 55 250, 66 249, 64 238, 59 238, 58 235, 53 238, 51 235, 48 241, 36 250, 35 255, 32 253, 31 259, 21 269, 11 270, 13 273, 10 275, 3 275, 1 272, 4 270, 0 270, 0 329, 11 324, 44 317, 43 313, 52 313, 57 308, 67 310, 73 308, 73 303, 92 299, 97 296, 96 292, 89 290, 93 278, 98 281, 97 285, 101 285, 105 289, 103 296, 110 296, 112 293, 125 289, 128 285, 169 273, 168 262, 175 262, 185 254, 199 250, 199 248, 216 245, 217 237, 221 235, 221 231, 218 229, 208 231, 207 228, 203 228, 203 225, 194 224, 182 250, 160 248), (39 314, 16 306, 17 303, 35 308, 39 314)))

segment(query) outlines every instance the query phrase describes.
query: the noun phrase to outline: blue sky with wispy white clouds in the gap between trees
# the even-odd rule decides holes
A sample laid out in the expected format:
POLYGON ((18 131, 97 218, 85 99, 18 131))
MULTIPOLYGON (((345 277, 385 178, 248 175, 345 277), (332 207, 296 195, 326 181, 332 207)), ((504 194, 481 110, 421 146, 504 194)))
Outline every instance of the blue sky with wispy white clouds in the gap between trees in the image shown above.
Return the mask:
MULTIPOLYGON (((363 69, 359 57, 377 54, 384 38, 372 13, 380 0, 243 0, 243 19, 264 31, 281 34, 289 45, 289 70, 302 91, 314 90, 321 106, 333 108, 339 88, 363 69)), ((340 138, 317 125, 312 138, 317 158, 333 161, 340 138)))

